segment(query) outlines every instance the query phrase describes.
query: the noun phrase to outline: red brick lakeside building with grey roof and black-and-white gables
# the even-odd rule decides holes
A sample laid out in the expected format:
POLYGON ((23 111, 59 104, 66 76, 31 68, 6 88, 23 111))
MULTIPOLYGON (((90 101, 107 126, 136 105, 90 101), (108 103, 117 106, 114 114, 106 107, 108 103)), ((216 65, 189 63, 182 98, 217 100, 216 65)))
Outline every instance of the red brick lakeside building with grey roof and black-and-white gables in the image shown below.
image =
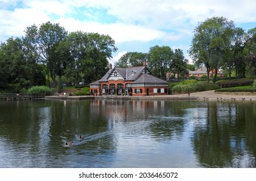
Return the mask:
POLYGON ((90 83, 91 94, 155 96, 168 94, 168 82, 152 76, 144 63, 141 67, 114 67, 98 81, 90 83))

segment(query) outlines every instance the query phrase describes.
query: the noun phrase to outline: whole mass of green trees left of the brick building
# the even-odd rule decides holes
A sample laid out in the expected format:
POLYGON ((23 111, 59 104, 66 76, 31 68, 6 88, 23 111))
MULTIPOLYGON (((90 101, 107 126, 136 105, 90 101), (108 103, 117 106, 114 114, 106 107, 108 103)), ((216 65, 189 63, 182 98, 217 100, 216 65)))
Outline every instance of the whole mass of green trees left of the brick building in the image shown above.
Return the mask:
POLYGON ((0 89, 18 84, 17 92, 32 85, 57 86, 65 83, 90 83, 101 78, 112 52, 118 50, 109 35, 67 32, 50 21, 32 25, 21 38, 10 37, 0 46, 0 89))

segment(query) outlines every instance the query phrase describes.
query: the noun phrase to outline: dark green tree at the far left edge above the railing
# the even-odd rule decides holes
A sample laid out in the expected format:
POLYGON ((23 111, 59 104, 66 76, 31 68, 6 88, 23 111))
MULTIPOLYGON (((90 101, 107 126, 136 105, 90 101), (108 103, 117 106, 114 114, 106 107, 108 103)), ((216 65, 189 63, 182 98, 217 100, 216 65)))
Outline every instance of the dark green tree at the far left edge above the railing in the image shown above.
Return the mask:
POLYGON ((38 65, 20 38, 10 37, 0 46, 0 87, 16 85, 14 91, 45 83, 44 67, 38 65))

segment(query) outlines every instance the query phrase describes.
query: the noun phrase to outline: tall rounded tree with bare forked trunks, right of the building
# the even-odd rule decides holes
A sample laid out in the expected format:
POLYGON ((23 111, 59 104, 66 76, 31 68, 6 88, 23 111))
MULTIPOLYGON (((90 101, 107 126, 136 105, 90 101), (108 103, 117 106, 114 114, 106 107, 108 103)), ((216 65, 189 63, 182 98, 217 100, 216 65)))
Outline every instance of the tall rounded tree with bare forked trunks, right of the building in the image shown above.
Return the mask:
POLYGON ((194 30, 189 54, 196 65, 204 64, 208 72, 214 72, 213 82, 217 72, 224 65, 225 58, 230 54, 230 45, 234 35, 235 24, 225 17, 211 17, 200 23, 194 30))

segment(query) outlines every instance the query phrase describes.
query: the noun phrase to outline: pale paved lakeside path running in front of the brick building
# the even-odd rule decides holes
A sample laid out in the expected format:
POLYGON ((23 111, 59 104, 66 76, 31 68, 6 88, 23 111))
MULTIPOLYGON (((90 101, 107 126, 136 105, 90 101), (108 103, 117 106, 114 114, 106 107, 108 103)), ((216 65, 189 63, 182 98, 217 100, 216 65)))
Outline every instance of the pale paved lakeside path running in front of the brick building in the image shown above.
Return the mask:
POLYGON ((88 99, 123 99, 123 100, 208 100, 208 101, 256 101, 256 93, 243 95, 241 92, 229 94, 227 92, 216 93, 213 91, 193 92, 188 94, 174 94, 163 96, 45 96, 45 99, 58 100, 88 100, 88 99), (226 93, 226 94, 225 94, 226 93))

